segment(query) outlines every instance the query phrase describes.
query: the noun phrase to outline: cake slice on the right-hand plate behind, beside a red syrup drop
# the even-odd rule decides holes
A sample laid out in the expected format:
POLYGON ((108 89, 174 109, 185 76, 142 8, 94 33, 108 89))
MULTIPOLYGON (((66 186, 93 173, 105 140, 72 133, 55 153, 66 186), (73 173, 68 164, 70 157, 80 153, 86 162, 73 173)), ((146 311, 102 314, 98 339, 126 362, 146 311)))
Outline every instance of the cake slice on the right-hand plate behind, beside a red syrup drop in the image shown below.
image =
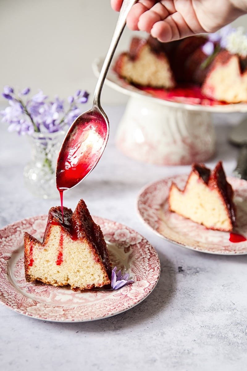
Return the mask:
POLYGON ((168 203, 170 211, 207 229, 231 231, 236 221, 233 189, 221 161, 213 171, 204 164, 193 164, 183 190, 171 184, 168 203))

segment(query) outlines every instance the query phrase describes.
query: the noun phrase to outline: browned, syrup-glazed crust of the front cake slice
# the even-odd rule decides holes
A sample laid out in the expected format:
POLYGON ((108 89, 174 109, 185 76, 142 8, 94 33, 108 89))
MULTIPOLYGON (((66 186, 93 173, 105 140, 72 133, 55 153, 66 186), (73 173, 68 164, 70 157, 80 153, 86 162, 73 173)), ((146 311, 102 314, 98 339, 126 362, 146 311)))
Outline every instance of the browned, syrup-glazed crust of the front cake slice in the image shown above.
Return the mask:
MULTIPOLYGON (((104 276, 103 282, 94 282, 94 284, 92 285, 88 283, 85 287, 71 286, 71 288, 74 291, 77 291, 79 289, 90 289, 94 286, 101 287, 103 285, 110 284, 111 263, 107 245, 100 226, 94 223, 85 202, 83 200, 80 200, 74 213, 71 209, 63 207, 63 214, 64 223, 61 213, 61 207, 51 207, 51 209, 49 210, 47 225, 42 243, 33 236, 30 236, 29 233, 24 233, 24 269, 27 282, 33 282, 37 279, 41 282, 49 283, 55 286, 63 286, 68 284, 68 282, 59 282, 56 279, 49 280, 41 278, 39 276, 34 276, 32 271, 33 264, 30 264, 32 260, 30 244, 33 248, 35 247, 38 250, 43 250, 44 248, 48 249, 49 247, 47 246, 49 246, 49 241, 53 234, 53 228, 54 226, 58 226, 63 239, 67 236, 67 240, 75 240, 79 243, 83 243, 84 246, 85 244, 87 245, 90 256, 93 256, 93 260, 97 263, 97 266, 101 267, 100 269, 103 272, 102 275, 104 276)), ((59 250, 59 246, 57 247, 57 249, 59 250)), ((77 267, 74 267, 74 270, 76 269, 77 267)), ((70 272, 68 272, 68 276, 69 273, 70 272)))

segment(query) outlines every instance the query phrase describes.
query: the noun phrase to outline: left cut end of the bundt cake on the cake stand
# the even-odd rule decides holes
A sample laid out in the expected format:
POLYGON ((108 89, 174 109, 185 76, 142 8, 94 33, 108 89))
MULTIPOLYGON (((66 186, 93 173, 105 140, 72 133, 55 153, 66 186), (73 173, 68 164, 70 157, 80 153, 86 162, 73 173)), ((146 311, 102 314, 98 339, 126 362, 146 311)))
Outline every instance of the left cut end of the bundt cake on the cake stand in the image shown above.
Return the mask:
POLYGON ((129 83, 153 88, 173 88, 173 72, 166 54, 149 40, 133 37, 129 52, 117 58, 115 70, 129 83))

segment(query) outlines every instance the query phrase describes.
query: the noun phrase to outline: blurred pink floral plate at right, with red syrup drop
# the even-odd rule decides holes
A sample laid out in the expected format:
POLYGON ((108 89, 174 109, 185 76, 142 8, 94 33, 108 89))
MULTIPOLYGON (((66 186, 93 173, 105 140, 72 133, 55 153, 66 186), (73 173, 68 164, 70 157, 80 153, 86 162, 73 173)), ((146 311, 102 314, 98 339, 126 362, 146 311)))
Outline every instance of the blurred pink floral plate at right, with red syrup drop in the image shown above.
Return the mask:
MULTIPOLYGON (((141 219, 159 236, 188 249, 222 255, 247 254, 247 241, 230 242, 230 233, 206 229, 168 210, 168 194, 174 181, 183 189, 188 175, 176 175, 144 187, 137 199, 141 219)), ((227 178, 234 190, 237 227, 234 232, 247 237, 247 181, 227 178)))

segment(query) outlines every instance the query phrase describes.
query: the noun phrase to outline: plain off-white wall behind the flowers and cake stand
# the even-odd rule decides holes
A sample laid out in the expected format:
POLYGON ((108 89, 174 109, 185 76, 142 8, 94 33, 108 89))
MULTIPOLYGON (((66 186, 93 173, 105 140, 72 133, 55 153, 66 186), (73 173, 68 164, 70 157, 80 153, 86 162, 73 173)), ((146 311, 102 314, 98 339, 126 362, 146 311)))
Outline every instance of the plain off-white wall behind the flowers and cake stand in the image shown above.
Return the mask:
MULTIPOLYGON (((0 0, 0 91, 29 86, 65 98, 81 88, 92 98, 91 63, 105 55, 117 16, 110 0, 0 0)), ((234 25, 246 27, 247 16, 234 25)), ((132 35, 124 30, 117 52, 128 48, 132 35)), ((126 100, 104 86, 102 104, 126 100)))

